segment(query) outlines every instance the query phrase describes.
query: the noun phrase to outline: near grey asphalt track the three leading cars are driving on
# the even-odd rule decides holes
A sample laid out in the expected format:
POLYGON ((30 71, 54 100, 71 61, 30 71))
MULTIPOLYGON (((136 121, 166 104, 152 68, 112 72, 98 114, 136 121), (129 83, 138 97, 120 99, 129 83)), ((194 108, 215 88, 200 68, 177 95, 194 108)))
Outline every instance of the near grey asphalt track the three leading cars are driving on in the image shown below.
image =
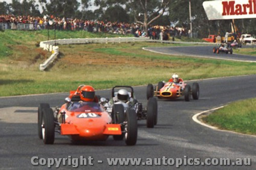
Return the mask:
MULTIPOLYGON (((111 166, 107 158, 250 158, 250 166, 181 165, 180 169, 255 169, 256 137, 206 128, 195 123, 192 116, 201 111, 220 107, 229 102, 256 97, 256 75, 198 80, 199 100, 185 102, 158 100, 158 124, 148 129, 139 121, 138 140, 128 147, 124 141, 73 144, 66 136, 56 134, 53 145, 45 145, 37 136, 37 106, 50 103, 60 106, 68 93, 42 94, 0 98, 0 169, 47 169, 33 166, 31 158, 93 158, 93 165, 78 169, 175 169, 175 165, 111 166), (102 163, 98 163, 98 160, 102 163)), ((188 82, 191 84, 193 82, 188 82)), ((146 87, 134 87, 138 101, 146 105, 146 87)), ((96 94, 109 97, 110 90, 96 94)), ((239 112, 239 110, 238 110, 239 112)), ((38 160, 37 160, 38 162, 38 160)), ((56 164, 53 165, 53 167, 56 164)), ((61 165, 59 169, 72 169, 61 165)))

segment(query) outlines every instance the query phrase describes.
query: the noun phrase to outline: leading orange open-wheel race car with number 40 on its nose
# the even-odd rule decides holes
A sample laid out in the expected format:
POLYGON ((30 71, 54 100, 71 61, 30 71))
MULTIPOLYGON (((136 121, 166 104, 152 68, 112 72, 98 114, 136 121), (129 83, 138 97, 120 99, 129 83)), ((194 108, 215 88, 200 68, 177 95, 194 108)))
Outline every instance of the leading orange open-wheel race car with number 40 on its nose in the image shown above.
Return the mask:
MULTIPOLYGON (((137 141, 137 117, 131 110, 126 114, 112 112, 114 117, 122 116, 120 119, 112 119, 99 104, 97 96, 93 102, 80 99, 80 90, 70 91, 70 98, 66 103, 56 110, 50 108, 47 103, 41 103, 38 107, 38 136, 45 144, 53 144, 55 132, 60 135, 68 135, 72 141, 77 140, 106 140, 110 135, 125 136, 127 145, 135 145, 137 141)), ((82 92, 81 92, 82 93, 82 92)))

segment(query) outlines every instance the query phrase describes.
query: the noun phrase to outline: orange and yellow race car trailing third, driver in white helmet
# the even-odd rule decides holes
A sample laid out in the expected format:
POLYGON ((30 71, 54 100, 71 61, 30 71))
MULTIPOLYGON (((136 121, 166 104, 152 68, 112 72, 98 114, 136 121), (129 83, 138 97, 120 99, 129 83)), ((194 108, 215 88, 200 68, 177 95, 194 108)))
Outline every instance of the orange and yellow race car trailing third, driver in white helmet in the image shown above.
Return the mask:
POLYGON ((194 100, 198 100, 199 84, 195 82, 191 88, 177 74, 174 74, 168 82, 159 82, 155 88, 152 84, 147 85, 147 99, 152 96, 157 96, 159 99, 176 99, 183 95, 185 101, 189 101, 191 95, 194 100))

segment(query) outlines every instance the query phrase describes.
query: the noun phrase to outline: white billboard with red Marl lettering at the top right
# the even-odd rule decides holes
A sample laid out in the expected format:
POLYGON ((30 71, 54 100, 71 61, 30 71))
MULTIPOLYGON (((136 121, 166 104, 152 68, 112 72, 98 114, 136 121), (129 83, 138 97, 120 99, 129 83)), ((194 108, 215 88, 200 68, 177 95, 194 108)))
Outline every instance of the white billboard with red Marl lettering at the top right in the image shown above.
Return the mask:
POLYGON ((203 7, 209 20, 256 18, 256 0, 205 1, 203 7))

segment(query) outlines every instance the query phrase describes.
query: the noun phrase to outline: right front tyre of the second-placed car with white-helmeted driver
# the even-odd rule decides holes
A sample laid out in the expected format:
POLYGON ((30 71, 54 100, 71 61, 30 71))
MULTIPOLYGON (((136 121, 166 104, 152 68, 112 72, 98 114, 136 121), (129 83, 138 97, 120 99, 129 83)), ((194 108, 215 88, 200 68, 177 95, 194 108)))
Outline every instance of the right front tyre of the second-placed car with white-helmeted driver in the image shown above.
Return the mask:
POLYGON ((156 111, 156 102, 154 98, 150 98, 147 101, 147 113, 146 113, 146 127, 154 128, 155 125, 155 111, 156 111))

